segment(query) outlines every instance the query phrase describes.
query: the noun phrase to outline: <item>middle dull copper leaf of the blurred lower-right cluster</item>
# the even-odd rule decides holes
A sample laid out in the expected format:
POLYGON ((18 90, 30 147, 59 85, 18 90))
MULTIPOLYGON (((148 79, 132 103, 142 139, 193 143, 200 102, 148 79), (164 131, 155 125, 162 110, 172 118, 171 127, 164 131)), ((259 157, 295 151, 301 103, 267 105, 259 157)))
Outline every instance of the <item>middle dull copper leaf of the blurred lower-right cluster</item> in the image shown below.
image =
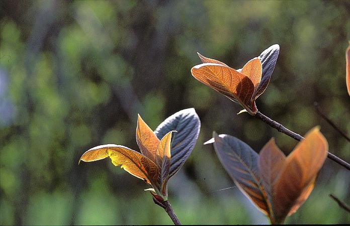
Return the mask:
POLYGON ((267 203, 270 208, 270 218, 274 220, 273 214, 273 185, 284 167, 286 156, 277 147, 275 140, 272 138, 259 153, 258 168, 261 182, 267 192, 267 203))

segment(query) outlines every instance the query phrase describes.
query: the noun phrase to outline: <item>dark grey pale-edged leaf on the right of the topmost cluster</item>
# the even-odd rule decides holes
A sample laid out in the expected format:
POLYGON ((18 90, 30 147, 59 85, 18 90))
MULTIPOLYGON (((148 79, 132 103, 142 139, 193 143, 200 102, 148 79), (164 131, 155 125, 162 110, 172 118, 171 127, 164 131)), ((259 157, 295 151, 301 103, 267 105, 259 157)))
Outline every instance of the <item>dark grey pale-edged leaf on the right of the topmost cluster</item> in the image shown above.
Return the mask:
POLYGON ((268 87, 271 74, 274 71, 279 53, 280 46, 278 44, 275 44, 264 50, 260 54, 260 56, 258 56, 262 64, 262 74, 260 84, 258 85, 254 93, 254 99, 256 99, 261 93, 263 93, 266 87, 268 87))

